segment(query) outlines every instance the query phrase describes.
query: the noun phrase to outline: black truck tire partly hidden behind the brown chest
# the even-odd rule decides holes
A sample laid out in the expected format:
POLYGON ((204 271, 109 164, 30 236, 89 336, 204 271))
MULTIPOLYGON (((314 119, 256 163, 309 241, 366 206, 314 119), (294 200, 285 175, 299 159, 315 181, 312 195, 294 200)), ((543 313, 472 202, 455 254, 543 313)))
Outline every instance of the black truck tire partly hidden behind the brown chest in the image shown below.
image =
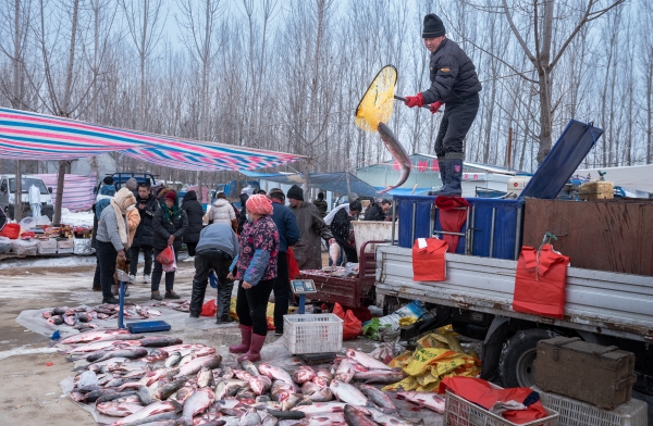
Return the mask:
POLYGON ((555 337, 555 333, 542 328, 519 330, 508 339, 501 352, 498 375, 504 388, 534 385, 534 361, 538 354, 537 346, 540 340, 555 337))

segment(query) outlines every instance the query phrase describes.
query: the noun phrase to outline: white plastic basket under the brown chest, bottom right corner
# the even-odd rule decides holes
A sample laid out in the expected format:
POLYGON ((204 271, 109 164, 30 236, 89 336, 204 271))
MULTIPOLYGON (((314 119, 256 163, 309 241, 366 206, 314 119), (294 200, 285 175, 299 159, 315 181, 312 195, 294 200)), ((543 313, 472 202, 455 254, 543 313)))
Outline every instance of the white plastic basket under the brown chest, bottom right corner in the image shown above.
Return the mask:
POLYGON ((540 393, 544 405, 559 413, 559 426, 646 426, 649 422, 648 404, 637 399, 607 411, 572 398, 545 392, 535 386, 532 389, 540 393))

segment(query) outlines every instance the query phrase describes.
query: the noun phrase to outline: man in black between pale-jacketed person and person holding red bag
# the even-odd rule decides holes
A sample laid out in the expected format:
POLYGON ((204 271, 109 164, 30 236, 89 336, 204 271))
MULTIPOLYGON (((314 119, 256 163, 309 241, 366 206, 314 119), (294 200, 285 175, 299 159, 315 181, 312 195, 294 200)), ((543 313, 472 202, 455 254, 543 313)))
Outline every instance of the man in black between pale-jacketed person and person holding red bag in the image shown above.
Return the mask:
POLYGON ((151 193, 151 187, 148 181, 138 185, 137 193, 136 208, 140 214, 140 223, 134 235, 134 243, 130 248, 130 277, 132 278, 132 283, 136 280, 136 273, 138 272, 138 253, 143 250, 143 258, 145 260, 145 266, 143 267, 143 283, 148 284, 150 281, 150 275, 152 274, 152 247, 155 245, 152 220, 155 213, 160 208, 157 198, 151 193))

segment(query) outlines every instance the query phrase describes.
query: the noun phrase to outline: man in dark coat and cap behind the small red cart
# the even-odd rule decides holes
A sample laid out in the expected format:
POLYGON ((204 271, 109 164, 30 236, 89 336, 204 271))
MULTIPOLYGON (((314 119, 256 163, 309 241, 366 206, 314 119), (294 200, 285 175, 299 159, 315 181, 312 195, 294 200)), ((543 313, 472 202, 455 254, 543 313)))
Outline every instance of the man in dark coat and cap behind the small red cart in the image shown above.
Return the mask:
POLYGON ((297 218, 299 225, 299 241, 293 247, 295 260, 299 270, 322 268, 322 242, 320 238, 335 245, 335 239, 329 229, 329 225, 310 202, 304 201, 304 190, 293 185, 287 192, 291 211, 297 218))

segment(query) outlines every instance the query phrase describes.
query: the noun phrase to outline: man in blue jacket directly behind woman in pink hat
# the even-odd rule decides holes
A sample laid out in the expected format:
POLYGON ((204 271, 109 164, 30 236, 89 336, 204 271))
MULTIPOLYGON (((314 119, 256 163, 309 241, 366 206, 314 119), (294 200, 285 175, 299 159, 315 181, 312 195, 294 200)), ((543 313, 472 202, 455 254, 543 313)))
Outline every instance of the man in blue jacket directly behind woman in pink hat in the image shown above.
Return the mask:
POLYGON ((285 195, 279 188, 270 190, 272 221, 279 230, 279 254, 276 256, 276 280, 274 281, 274 334, 283 335, 283 315, 288 313, 291 281, 288 278, 288 248, 299 240, 297 218, 285 203, 285 195))

